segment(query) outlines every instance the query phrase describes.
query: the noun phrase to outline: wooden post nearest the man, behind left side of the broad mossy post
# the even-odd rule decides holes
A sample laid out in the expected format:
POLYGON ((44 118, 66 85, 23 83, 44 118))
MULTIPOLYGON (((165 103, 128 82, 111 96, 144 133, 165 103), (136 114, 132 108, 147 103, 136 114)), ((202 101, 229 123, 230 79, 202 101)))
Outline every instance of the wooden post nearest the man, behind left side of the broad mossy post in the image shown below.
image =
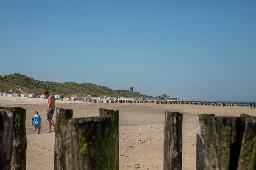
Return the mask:
POLYGON ((57 108, 56 114, 56 131, 55 131, 55 147, 54 147, 54 169, 63 169, 63 144, 61 137, 60 122, 65 119, 72 118, 73 110, 57 108))

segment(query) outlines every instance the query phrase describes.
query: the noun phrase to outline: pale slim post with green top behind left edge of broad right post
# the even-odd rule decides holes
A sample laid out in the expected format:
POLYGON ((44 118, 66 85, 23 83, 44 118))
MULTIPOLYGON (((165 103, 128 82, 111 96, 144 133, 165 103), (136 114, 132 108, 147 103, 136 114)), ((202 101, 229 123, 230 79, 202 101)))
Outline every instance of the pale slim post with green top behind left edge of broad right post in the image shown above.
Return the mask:
POLYGON ((197 115, 197 134, 196 134, 196 169, 204 169, 204 154, 202 152, 202 139, 199 126, 199 118, 214 117, 214 114, 198 114, 197 115))

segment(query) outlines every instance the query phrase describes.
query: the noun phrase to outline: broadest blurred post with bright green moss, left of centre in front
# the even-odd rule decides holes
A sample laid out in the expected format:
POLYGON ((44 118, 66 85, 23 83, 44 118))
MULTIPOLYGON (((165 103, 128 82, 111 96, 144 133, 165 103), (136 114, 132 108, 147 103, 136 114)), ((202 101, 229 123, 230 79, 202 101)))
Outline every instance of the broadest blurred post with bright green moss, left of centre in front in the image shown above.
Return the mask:
POLYGON ((117 129, 115 118, 73 118, 63 120, 64 169, 116 170, 117 129))

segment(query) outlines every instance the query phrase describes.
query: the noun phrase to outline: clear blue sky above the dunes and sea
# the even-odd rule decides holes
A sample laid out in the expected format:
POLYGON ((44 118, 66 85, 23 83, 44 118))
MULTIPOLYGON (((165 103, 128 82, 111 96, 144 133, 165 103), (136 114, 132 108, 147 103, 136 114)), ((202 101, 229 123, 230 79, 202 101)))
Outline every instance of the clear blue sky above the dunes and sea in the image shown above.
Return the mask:
POLYGON ((256 1, 3 1, 0 75, 256 101, 256 1))

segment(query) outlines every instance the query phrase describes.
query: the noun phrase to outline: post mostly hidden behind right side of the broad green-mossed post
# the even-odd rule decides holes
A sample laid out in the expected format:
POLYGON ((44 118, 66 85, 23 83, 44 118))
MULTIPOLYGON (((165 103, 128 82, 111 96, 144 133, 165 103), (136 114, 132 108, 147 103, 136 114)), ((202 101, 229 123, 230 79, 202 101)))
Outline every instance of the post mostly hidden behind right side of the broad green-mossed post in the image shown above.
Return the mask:
POLYGON ((119 110, 110 110, 99 108, 99 116, 112 115, 115 117, 115 127, 117 131, 117 143, 116 143, 116 169, 119 169, 119 110))

